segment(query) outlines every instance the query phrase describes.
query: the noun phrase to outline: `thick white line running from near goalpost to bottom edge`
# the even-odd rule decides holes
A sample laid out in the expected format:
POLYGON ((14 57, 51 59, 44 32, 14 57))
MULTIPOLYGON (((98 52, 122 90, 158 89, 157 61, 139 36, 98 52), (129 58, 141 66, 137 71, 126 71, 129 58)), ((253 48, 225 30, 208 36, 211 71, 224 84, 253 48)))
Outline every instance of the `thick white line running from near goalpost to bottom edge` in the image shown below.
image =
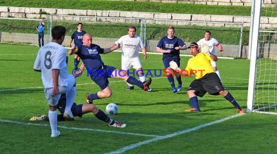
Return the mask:
POLYGON ((135 144, 128 145, 128 146, 123 147, 121 149, 118 149, 116 151, 106 153, 106 154, 121 154, 121 153, 124 153, 127 150, 132 150, 132 149, 137 148, 137 147, 139 147, 141 145, 144 145, 144 144, 148 144, 148 143, 155 142, 155 141, 158 141, 158 140, 162 140, 162 139, 166 139, 166 138, 170 138, 170 137, 175 137, 175 136, 178 136, 178 135, 182 135, 182 134, 185 134, 185 133, 196 131, 196 130, 199 130, 201 128, 205 128, 205 127, 208 127, 210 125, 217 124, 217 123, 220 123, 220 122, 223 122, 223 121, 226 121, 226 120, 230 120, 230 119, 242 116, 242 115, 244 115, 244 114, 236 114, 236 115, 226 117, 226 118, 221 119, 221 120, 212 121, 212 122, 209 122, 209 123, 206 123, 206 124, 202 124, 202 125, 199 125, 199 126, 196 126, 196 127, 193 127, 193 128, 185 129, 185 130, 175 132, 175 133, 172 133, 172 134, 168 134, 168 135, 165 135, 165 136, 159 136, 159 137, 156 137, 156 138, 141 141, 141 142, 138 142, 138 143, 135 143, 135 144))

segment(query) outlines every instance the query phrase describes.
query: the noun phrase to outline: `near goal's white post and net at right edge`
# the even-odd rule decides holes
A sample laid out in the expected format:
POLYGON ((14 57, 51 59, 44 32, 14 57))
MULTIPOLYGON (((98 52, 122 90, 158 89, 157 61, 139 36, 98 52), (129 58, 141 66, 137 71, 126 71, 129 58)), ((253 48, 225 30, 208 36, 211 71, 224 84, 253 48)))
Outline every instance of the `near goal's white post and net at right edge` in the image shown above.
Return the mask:
MULTIPOLYGON (((261 15, 276 17, 277 10, 261 8, 261 15)), ((258 25, 258 33, 253 30, 252 36, 252 43, 257 44, 257 48, 252 46, 251 49, 247 111, 277 114, 277 27, 264 26, 262 22, 258 25), (256 36, 257 40, 254 40, 256 36)))

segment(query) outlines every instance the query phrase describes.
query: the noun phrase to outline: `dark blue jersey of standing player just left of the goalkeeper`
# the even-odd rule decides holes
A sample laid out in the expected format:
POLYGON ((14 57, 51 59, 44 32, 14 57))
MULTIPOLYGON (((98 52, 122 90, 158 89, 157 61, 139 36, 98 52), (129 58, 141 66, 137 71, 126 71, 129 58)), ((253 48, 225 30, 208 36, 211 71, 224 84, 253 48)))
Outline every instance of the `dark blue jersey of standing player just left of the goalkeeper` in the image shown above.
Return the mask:
POLYGON ((170 53, 163 53, 163 58, 180 58, 180 50, 174 48, 184 45, 186 45, 184 41, 176 36, 173 36, 172 39, 164 36, 159 40, 157 47, 162 50, 171 50, 170 53))

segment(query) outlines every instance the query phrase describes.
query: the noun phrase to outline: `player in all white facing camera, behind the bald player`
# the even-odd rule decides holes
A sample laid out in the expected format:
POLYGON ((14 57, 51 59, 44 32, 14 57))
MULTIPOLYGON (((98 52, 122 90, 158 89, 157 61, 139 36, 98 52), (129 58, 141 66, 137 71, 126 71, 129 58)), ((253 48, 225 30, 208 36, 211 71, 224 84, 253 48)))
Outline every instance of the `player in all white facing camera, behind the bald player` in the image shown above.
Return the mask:
MULTIPOLYGON (((140 63, 140 58, 138 56, 139 48, 141 49, 143 53, 143 59, 147 59, 146 55, 146 47, 144 43, 142 42, 142 39, 136 35, 136 27, 135 26, 129 26, 128 27, 128 34, 122 36, 120 39, 118 39, 113 46, 116 44, 120 44, 122 48, 122 55, 121 55, 121 69, 127 71, 128 75, 137 75, 139 76, 139 80, 141 82, 145 82, 146 78, 143 73, 143 69, 140 63), (136 72, 130 71, 131 66, 136 69, 136 72)), ((129 83, 127 90, 134 89, 134 85, 131 85, 129 83)), ((152 91, 151 88, 148 88, 147 91, 152 91)))

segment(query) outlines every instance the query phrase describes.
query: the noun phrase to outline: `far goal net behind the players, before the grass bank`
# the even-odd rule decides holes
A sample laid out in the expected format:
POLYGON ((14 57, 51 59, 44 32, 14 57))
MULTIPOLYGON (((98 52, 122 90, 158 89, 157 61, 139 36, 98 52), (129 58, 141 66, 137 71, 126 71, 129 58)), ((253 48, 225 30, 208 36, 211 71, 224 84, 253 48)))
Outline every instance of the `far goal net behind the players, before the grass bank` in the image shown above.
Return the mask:
MULTIPOLYGON (((51 26, 62 25, 67 29, 64 46, 68 46, 70 35, 77 30, 78 22, 83 23, 83 30, 92 35, 92 42, 103 48, 109 48, 118 38, 128 34, 128 26, 136 26, 139 35, 147 46, 147 51, 156 52, 159 39, 167 35, 169 26, 174 26, 175 36, 186 44, 197 42, 204 38, 204 32, 209 30, 223 46, 224 52, 218 51, 220 57, 241 58, 243 40, 248 40, 248 32, 243 34, 242 23, 224 23, 208 21, 187 21, 154 18, 125 18, 125 17, 91 17, 50 15, 51 26)), ((247 30, 245 30, 247 31, 247 30)), ((190 55, 188 50, 182 54, 190 55)))

